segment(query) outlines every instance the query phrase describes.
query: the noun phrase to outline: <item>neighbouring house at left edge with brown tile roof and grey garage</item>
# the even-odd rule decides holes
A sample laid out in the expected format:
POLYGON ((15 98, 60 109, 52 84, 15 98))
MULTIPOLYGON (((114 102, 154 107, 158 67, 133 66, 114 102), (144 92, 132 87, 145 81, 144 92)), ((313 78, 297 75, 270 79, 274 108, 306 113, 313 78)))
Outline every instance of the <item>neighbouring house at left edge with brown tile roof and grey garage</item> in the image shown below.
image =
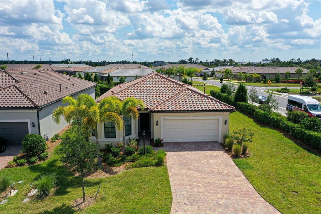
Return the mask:
POLYGON ((95 98, 96 83, 45 69, 0 71, 0 137, 7 145, 21 145, 26 134, 51 138, 68 123, 61 118, 57 125, 52 111, 63 105, 67 96, 80 93, 95 98))

